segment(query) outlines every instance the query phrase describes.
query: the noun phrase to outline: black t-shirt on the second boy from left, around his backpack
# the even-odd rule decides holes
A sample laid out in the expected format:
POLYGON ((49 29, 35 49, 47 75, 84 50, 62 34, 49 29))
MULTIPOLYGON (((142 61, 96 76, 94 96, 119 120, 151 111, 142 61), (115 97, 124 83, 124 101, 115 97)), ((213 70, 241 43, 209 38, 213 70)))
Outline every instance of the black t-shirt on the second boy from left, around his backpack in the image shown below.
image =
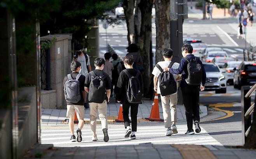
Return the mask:
MULTIPOLYGON (((91 71, 92 72, 92 71, 91 71)), ((91 79, 95 78, 95 75, 93 75, 93 73, 89 72, 86 75, 86 80, 84 82, 84 87, 90 87, 90 83, 91 83, 91 79)), ((103 72, 102 70, 94 70, 94 73, 100 77, 103 78, 103 80, 105 81, 105 87, 106 90, 111 89, 112 88, 112 83, 110 80, 110 77, 107 73, 103 72)))

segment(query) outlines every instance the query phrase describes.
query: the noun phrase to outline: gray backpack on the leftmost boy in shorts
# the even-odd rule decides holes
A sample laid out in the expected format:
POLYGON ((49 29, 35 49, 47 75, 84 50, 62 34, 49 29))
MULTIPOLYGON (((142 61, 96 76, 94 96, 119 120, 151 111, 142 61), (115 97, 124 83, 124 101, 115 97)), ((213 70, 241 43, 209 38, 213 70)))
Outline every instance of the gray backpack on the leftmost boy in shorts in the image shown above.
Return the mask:
POLYGON ((81 100, 80 82, 78 80, 81 75, 81 73, 78 73, 75 79, 73 79, 71 74, 68 74, 68 80, 64 86, 64 94, 67 102, 78 103, 81 100))

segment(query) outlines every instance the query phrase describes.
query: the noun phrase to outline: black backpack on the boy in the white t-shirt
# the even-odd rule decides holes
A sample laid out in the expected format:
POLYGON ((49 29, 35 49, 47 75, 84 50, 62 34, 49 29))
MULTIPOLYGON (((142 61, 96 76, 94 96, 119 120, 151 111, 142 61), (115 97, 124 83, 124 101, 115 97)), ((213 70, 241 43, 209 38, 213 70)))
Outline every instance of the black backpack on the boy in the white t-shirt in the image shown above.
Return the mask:
MULTIPOLYGON (((172 68, 172 65, 175 62, 170 62, 168 68, 172 68)), ((174 79, 174 76, 172 73, 168 72, 163 72, 163 69, 161 68, 160 65, 156 64, 156 67, 160 70, 160 75, 158 76, 158 82, 159 82, 159 87, 161 91, 161 96, 167 96, 170 94, 174 94, 177 92, 177 83, 174 79)))

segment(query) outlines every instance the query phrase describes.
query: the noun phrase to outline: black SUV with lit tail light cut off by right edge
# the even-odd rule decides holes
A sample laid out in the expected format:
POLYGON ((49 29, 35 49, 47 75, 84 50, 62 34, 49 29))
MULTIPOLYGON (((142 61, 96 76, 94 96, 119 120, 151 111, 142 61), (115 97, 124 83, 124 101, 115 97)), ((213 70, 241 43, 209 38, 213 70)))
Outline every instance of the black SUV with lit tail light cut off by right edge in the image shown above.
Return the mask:
POLYGON ((234 88, 241 89, 256 83, 256 61, 244 61, 234 71, 234 88))

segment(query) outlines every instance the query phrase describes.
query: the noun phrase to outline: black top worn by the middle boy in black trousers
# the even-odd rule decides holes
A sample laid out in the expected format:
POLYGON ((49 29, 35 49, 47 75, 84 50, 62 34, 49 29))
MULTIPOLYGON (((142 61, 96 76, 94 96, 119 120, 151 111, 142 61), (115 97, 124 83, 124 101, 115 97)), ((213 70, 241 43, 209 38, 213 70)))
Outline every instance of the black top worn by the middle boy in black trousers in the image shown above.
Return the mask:
MULTIPOLYGON (((126 69, 130 75, 136 76, 138 70, 134 69, 134 68, 127 68, 126 69)), ((142 93, 143 93, 143 80, 142 80, 142 75, 139 75, 139 81, 140 81, 140 87, 142 89, 142 93)), ((121 104, 129 104, 128 100, 126 99, 126 92, 127 92, 127 87, 128 87, 128 83, 129 83, 129 77, 126 75, 126 73, 124 72, 124 70, 120 73, 118 82, 117 82, 117 89, 116 89, 116 101, 121 101, 121 104)))

